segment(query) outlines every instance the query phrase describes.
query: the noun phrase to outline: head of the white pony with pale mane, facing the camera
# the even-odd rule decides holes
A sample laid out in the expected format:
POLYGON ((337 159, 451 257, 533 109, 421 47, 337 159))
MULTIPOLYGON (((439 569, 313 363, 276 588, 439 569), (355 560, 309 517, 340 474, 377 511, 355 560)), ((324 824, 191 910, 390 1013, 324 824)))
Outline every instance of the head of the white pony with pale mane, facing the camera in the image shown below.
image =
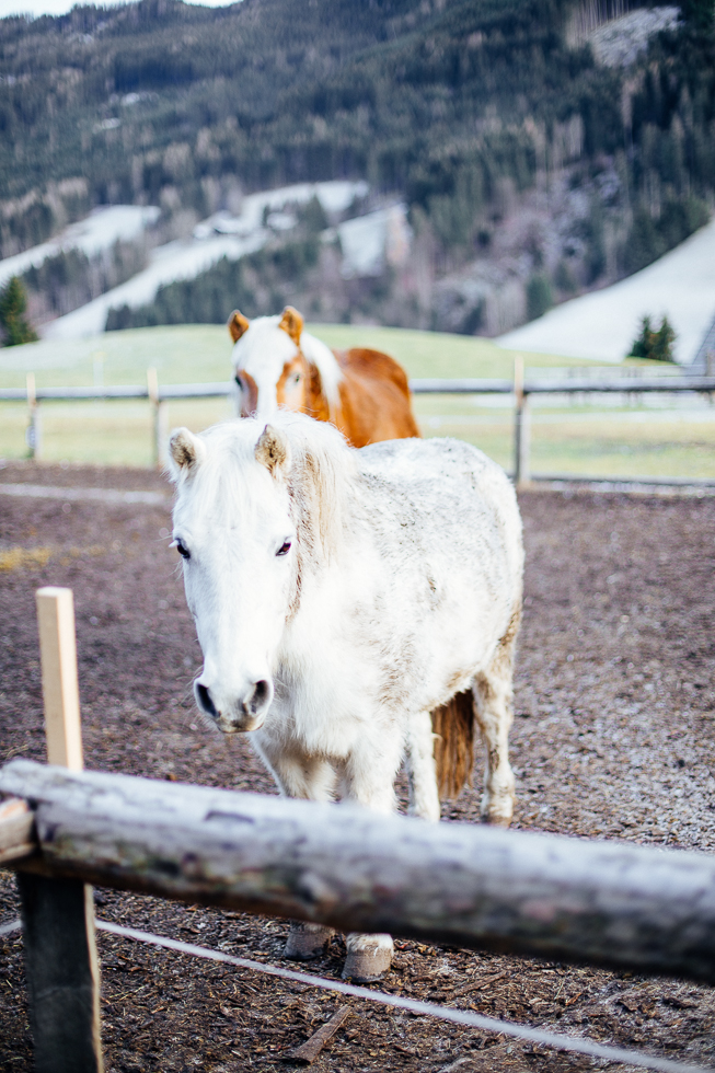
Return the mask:
POLYGON ((289 414, 171 436, 174 545, 204 653, 194 693, 227 734, 257 729, 270 707, 304 574, 335 539, 336 452, 349 466, 338 432, 289 414))

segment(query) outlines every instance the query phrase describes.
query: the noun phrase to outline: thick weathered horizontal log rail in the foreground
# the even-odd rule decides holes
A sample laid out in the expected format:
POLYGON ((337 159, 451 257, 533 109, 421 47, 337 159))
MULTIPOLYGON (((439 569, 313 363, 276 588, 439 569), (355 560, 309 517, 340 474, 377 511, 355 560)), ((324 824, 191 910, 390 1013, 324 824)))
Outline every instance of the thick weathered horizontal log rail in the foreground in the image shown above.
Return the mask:
POLYGON ((715 856, 429 824, 28 760, 7 867, 191 902, 715 982, 715 856), (26 830, 23 833, 26 839, 26 830))

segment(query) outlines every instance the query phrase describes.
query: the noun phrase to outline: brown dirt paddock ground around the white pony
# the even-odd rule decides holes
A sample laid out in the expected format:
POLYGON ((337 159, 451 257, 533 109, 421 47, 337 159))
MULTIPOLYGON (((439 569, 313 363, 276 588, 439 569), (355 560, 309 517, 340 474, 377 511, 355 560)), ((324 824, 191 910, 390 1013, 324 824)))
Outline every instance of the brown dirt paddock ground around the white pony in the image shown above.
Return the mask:
MULTIPOLYGON (((141 471, 8 464, 0 484, 165 491, 141 471)), ((515 826, 715 847, 715 499, 537 491, 521 497, 523 630, 511 734, 515 826)), ((274 793, 245 739, 196 717, 200 653, 165 506, 0 494, 0 759, 44 759, 34 590, 77 605, 88 768, 274 793)), ((477 761, 475 786, 481 780, 477 761)), ((445 807, 474 822, 477 791, 445 807)), ((97 914, 278 961, 280 920, 96 891, 97 914)), ((0 923, 18 913, 0 873, 0 923)), ((334 993, 155 950, 105 933, 102 1032, 109 1071, 289 1068, 286 1052, 337 1006, 351 1015, 316 1070, 603 1068, 334 993)), ((397 942, 387 990, 715 1064, 715 991, 558 964, 397 942)), ((335 941, 309 971, 338 976, 335 941)), ((22 942, 0 938, 0 1068, 30 1073, 22 942)))

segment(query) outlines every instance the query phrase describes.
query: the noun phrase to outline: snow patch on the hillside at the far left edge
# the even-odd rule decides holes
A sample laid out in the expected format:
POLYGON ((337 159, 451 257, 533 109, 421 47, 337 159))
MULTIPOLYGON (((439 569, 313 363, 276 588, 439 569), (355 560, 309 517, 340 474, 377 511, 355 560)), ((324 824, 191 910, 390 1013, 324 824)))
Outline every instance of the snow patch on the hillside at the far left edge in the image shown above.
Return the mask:
POLYGON ((48 257, 79 250, 94 257, 115 242, 131 242, 159 217, 153 205, 108 205, 94 209, 79 223, 70 223, 56 239, 0 261, 0 287, 11 276, 21 276, 28 268, 38 268, 48 257))

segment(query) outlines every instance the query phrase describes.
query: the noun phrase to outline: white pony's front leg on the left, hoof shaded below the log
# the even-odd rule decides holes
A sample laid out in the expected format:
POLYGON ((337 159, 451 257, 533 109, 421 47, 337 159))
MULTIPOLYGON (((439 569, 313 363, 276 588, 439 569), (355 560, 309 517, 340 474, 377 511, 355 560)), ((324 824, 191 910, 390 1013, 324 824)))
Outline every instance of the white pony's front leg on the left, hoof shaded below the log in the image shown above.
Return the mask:
MULTIPOLYGON (((335 769, 326 760, 311 757, 302 750, 288 752, 279 745, 272 747, 263 742, 261 754, 286 797, 313 801, 335 799, 335 769)), ((291 921, 284 957, 292 961, 310 961, 321 957, 334 934, 335 928, 324 924, 291 921)))

